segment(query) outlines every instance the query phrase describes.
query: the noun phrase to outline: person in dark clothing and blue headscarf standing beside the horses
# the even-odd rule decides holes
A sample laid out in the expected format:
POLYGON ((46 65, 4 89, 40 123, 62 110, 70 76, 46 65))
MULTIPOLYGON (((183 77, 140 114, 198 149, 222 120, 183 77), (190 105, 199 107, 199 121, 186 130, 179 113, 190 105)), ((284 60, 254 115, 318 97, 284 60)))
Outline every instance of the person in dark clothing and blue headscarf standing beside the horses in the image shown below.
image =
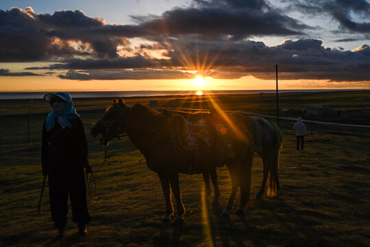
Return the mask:
POLYGON ((42 126, 42 175, 49 177, 51 217, 57 236, 63 237, 69 197, 73 221, 78 223, 79 234, 86 235, 90 216, 84 167, 87 172, 91 167, 82 119, 68 93, 47 93, 44 99, 53 108, 42 126))

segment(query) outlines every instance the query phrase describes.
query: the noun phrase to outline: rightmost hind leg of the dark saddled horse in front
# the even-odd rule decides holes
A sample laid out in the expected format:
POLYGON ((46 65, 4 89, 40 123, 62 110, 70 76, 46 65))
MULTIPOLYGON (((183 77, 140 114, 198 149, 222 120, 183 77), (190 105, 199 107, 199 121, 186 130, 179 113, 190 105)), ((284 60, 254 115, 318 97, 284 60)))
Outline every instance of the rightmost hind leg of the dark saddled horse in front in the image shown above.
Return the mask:
POLYGON ((251 195, 251 166, 253 163, 253 152, 247 154, 243 165, 240 167, 240 201, 236 214, 243 214, 243 209, 249 203, 251 195))

